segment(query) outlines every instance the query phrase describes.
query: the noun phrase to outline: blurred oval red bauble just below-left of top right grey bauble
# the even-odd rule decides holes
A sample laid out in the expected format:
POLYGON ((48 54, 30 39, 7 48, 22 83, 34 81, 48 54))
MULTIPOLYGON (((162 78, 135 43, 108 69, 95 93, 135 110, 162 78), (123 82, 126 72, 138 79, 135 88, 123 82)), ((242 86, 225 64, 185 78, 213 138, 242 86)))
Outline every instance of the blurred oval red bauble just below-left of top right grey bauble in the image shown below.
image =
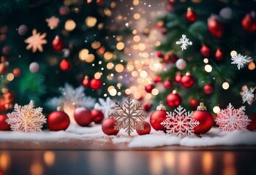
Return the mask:
POLYGON ((211 16, 208 18, 208 30, 213 36, 217 38, 222 37, 223 29, 223 25, 217 20, 217 17, 211 16))

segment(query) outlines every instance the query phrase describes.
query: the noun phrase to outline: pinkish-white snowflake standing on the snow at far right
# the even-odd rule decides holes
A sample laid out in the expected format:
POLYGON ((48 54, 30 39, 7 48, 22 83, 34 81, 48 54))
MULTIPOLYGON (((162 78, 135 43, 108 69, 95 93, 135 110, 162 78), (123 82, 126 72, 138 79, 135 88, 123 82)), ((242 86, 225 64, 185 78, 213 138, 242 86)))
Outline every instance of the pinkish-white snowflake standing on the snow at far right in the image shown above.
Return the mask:
POLYGON ((234 107, 229 104, 227 109, 222 109, 217 114, 216 122, 219 125, 221 131, 235 131, 246 129, 251 120, 244 113, 245 106, 241 106, 239 109, 234 109, 234 107))

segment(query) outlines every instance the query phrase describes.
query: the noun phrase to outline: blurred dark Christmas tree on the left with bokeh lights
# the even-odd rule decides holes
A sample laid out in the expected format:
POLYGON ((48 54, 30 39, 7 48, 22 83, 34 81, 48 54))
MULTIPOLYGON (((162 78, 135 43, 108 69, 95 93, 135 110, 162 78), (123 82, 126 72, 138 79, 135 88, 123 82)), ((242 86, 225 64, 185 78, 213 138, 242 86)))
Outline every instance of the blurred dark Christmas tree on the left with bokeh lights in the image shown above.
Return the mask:
POLYGON ((8 99, 45 106, 66 82, 94 98, 109 96, 111 85, 122 89, 113 74, 124 69, 119 55, 128 32, 109 29, 115 7, 110 0, 1 2, 1 109, 11 106, 8 99))

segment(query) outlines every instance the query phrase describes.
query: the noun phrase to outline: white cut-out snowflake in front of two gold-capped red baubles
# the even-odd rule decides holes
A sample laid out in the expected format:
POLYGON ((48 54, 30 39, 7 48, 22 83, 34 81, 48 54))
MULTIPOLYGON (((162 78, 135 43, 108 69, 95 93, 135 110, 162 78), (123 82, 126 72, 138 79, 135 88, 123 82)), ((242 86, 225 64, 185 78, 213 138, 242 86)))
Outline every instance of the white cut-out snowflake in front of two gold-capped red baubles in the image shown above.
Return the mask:
POLYGON ((199 125, 199 122, 192 118, 193 112, 186 112, 182 106, 178 106, 174 112, 166 113, 167 118, 162 121, 161 125, 167 129, 167 133, 179 138, 192 135, 193 129, 199 125))

